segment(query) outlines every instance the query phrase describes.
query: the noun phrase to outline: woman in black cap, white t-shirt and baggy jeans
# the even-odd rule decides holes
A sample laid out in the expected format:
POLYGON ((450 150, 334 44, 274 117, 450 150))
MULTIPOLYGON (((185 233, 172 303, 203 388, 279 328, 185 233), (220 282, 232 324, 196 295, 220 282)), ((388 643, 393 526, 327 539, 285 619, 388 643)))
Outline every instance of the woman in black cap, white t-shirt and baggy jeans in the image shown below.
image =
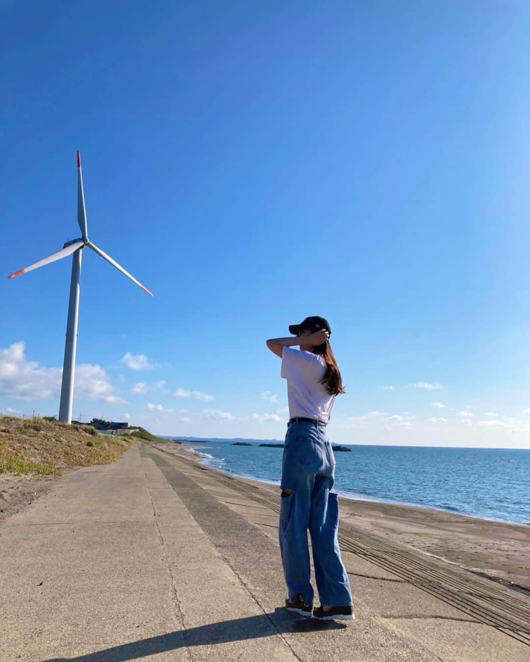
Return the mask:
POLYGON ((282 459, 280 551, 289 596, 286 608, 320 620, 353 620, 348 575, 337 540, 339 500, 331 491, 335 457, 326 426, 335 396, 344 393, 329 345, 331 328, 322 317, 293 324, 294 338, 267 340, 282 359, 287 379, 289 422, 282 459), (299 350, 292 349, 299 345, 299 350), (313 612, 307 529, 311 534, 315 579, 321 606, 313 612))

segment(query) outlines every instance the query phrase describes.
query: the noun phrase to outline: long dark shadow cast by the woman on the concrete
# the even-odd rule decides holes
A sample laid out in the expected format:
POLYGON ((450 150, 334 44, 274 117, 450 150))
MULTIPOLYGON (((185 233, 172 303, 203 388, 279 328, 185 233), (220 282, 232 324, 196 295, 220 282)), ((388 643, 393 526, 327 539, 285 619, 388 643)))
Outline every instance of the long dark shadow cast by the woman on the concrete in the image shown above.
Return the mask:
POLYGON ((191 646, 215 645, 228 641, 244 641, 259 637, 272 637, 285 632, 313 632, 315 630, 344 630, 346 625, 335 621, 319 621, 315 618, 297 618, 284 608, 276 608, 270 614, 235 618, 211 623, 189 630, 177 630, 149 639, 138 639, 112 648, 78 657, 54 657, 42 662, 125 662, 126 660, 156 655, 191 646))

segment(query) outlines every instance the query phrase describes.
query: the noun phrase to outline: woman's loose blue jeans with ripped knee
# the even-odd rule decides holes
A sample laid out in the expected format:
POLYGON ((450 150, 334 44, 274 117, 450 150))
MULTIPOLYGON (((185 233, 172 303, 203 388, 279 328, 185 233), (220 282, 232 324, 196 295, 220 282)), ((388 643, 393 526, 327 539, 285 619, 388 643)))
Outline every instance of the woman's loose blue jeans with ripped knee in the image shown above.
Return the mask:
POLYGON ((324 425, 291 423, 286 434, 282 459, 280 506, 280 552, 293 600, 301 593, 313 604, 307 529, 311 534, 315 580, 321 604, 343 606, 352 603, 348 575, 341 559, 339 497, 331 491, 335 482, 335 457, 324 425))

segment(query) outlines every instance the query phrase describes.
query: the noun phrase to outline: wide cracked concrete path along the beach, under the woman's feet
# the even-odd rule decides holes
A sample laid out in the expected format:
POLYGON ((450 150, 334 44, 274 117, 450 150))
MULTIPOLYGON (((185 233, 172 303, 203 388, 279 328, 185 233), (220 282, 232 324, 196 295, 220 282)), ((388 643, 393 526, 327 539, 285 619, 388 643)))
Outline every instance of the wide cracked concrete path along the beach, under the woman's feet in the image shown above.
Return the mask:
POLYGON ((356 620, 286 612, 278 500, 142 444, 63 477, 0 526, 0 660, 530 660, 528 598, 348 530, 356 620))

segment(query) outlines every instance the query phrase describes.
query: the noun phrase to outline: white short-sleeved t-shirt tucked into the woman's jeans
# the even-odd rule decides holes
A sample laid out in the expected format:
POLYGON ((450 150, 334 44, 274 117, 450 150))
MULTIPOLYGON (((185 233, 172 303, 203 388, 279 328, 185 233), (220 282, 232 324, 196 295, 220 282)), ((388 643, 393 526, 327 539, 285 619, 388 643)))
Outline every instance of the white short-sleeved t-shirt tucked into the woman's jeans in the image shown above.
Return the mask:
POLYGON ((282 377, 287 379, 289 417, 316 418, 329 422, 335 395, 320 380, 326 373, 324 357, 312 352, 282 349, 282 377))

